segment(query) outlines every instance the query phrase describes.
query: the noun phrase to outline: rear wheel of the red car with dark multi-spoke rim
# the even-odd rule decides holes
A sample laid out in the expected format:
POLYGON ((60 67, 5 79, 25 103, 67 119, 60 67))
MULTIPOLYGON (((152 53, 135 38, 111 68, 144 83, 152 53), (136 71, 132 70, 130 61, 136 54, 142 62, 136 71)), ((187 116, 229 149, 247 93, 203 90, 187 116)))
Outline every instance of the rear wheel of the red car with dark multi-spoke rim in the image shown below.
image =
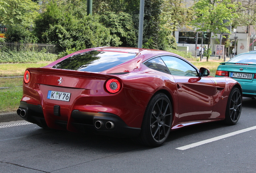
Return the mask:
POLYGON ((157 93, 147 105, 138 141, 150 147, 162 145, 169 136, 171 123, 171 102, 165 94, 157 93))

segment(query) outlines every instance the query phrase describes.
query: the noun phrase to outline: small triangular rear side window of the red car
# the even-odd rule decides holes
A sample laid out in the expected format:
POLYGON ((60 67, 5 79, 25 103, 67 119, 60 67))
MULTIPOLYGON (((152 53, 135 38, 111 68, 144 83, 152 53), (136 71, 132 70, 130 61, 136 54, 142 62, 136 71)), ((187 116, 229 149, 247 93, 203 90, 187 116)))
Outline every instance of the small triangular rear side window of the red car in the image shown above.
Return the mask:
POLYGON ((170 74, 167 66, 160 57, 153 58, 145 62, 144 65, 151 69, 170 74))

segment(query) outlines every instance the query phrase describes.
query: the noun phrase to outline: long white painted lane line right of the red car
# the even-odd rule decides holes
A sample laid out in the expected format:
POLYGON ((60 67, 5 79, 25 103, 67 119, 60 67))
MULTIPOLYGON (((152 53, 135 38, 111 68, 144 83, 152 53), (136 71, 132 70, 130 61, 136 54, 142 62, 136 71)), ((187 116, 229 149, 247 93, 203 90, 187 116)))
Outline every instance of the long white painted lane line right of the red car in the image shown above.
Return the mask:
POLYGON ((200 141, 200 142, 197 142, 197 143, 192 143, 190 145, 185 145, 183 147, 178 147, 176 149, 179 149, 179 150, 186 150, 186 149, 190 149, 190 148, 193 148, 193 147, 197 147, 199 145, 203 145, 203 144, 206 144, 206 143, 210 143, 210 142, 213 142, 213 141, 218 141, 220 139, 224 139, 224 138, 227 138, 227 137, 231 137, 231 136, 234 136, 234 135, 237 135, 237 134, 240 134, 240 133, 244 133, 244 132, 247 132, 247 131, 251 131, 251 130, 255 130, 256 129, 256 126, 254 127, 249 127, 247 129, 242 129, 242 130, 239 130, 239 131, 235 131, 235 132, 232 132, 232 133, 228 133, 226 135, 221 135, 221 136, 218 136, 218 137, 214 137, 214 138, 211 138, 211 139, 206 139, 204 141, 200 141))

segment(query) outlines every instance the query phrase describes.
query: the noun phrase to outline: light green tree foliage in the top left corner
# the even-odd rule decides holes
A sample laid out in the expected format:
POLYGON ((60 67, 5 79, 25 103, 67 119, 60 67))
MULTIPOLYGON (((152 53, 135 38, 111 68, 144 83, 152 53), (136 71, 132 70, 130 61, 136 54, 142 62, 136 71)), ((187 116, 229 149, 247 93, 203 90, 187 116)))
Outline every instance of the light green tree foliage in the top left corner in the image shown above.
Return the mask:
POLYGON ((21 24, 31 26, 38 15, 39 5, 31 0, 5 0, 0 8, 0 23, 5 25, 21 24))

